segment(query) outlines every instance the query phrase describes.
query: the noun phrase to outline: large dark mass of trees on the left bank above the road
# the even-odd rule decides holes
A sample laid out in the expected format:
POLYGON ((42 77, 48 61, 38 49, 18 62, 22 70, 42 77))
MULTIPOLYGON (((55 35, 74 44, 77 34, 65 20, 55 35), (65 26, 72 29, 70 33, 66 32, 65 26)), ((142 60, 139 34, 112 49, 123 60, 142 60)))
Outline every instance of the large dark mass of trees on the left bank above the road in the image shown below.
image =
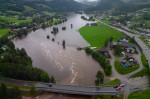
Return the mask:
POLYGON ((3 53, 3 58, 0 58, 2 76, 20 80, 49 82, 49 76, 44 70, 32 66, 32 60, 25 49, 15 49, 14 44, 7 37, 0 39, 0 46, 3 44, 7 45, 9 50, 3 53))

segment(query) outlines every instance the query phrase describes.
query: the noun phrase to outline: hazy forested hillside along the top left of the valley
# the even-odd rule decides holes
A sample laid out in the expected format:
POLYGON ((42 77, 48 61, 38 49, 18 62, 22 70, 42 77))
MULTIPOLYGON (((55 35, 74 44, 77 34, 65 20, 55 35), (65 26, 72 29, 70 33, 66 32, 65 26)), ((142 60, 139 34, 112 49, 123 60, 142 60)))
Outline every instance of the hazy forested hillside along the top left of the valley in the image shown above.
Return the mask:
POLYGON ((74 0, 0 0, 0 11, 13 10, 20 12, 31 11, 77 11, 82 4, 74 0))

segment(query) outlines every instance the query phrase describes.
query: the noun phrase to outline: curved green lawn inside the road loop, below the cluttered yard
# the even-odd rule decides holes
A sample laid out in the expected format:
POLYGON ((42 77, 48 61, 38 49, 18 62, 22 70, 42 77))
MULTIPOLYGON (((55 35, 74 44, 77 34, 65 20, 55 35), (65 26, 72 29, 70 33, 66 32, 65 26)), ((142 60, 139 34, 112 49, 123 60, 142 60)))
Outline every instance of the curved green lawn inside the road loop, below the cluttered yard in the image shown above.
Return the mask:
POLYGON ((121 74, 121 75, 125 75, 125 74, 128 74, 128 73, 131 73, 131 72, 137 70, 137 69, 140 67, 139 65, 137 65, 137 66, 135 66, 135 67, 123 68, 123 67, 120 65, 119 61, 115 61, 114 66, 115 66, 116 71, 117 71, 119 74, 121 74))

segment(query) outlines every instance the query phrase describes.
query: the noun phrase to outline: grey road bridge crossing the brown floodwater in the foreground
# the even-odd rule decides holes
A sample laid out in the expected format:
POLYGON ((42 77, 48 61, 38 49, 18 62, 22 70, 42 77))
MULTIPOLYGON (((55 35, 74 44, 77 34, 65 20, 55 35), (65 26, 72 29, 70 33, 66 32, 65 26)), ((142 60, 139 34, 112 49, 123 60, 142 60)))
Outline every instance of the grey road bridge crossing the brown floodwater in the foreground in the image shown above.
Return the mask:
POLYGON ((37 89, 44 90, 52 93, 63 93, 72 95, 86 95, 86 96, 96 96, 96 95, 118 95, 124 93, 124 88, 117 91, 113 86, 100 86, 100 87, 86 87, 86 86, 72 86, 72 85, 60 85, 53 84, 49 87, 49 84, 42 83, 35 86, 37 89))

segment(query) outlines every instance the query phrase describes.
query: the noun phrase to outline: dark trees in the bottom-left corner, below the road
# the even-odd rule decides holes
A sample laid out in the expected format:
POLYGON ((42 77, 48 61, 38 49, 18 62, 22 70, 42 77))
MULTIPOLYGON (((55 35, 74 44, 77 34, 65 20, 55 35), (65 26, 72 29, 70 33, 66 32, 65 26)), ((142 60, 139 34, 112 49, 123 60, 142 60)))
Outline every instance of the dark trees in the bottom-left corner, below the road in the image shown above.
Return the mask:
POLYGON ((17 87, 7 88, 5 84, 0 84, 1 99, 21 99, 21 93, 17 87))

